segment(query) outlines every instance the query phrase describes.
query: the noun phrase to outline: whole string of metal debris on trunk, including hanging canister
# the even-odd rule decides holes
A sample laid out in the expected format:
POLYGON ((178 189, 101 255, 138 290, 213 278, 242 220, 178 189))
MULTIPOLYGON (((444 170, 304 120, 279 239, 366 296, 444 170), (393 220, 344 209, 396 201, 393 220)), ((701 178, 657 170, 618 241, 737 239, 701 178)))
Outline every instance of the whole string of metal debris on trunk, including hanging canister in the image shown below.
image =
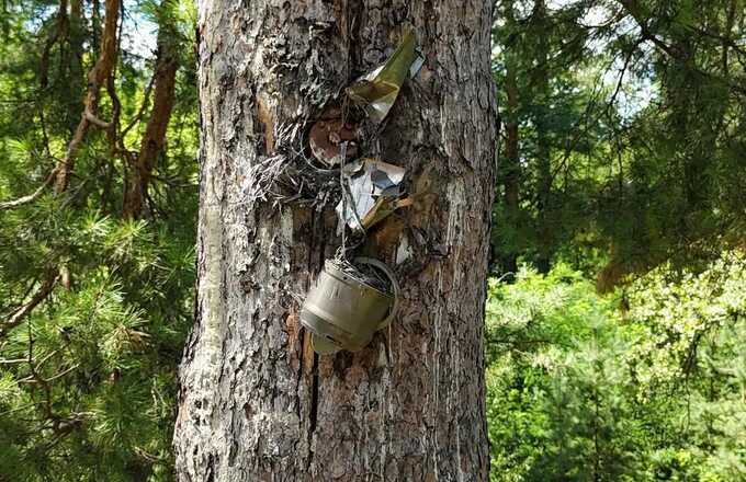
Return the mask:
MULTIPOLYGON (((415 50, 415 34, 410 30, 384 65, 346 89, 342 107, 338 107, 339 102, 328 107, 308 133, 308 147, 321 165, 319 168, 304 157, 312 173, 317 174, 313 185, 319 193, 325 187, 327 194, 341 191, 336 207, 341 246, 335 259, 326 261, 301 309, 301 322, 310 332, 314 351, 319 355, 331 355, 339 349, 362 349, 397 312, 399 287, 392 269, 378 260, 357 257, 350 263, 346 256, 365 239, 369 228, 395 209, 411 204, 409 197, 403 198, 404 168, 371 158, 358 159, 358 156, 359 148, 365 149, 377 141, 383 129, 375 124, 384 120, 402 84, 407 77, 417 74, 423 61, 415 50), (362 107, 370 122, 358 113, 354 122, 349 123, 348 101, 362 107), (369 136, 366 129, 370 127, 373 129, 369 136), (336 190, 329 184, 332 173, 337 177, 336 190), (321 180, 327 184, 321 184, 321 180), (348 226, 360 240, 352 248, 347 245, 348 226)), ((267 163, 265 168, 268 173, 255 172, 253 176, 276 183, 282 179, 279 172, 286 174, 280 160, 267 163)), ((303 191, 303 183, 297 191, 303 191)), ((255 196, 263 194, 256 190, 250 193, 255 196)), ((326 199, 324 197, 324 202, 326 199)), ((400 257, 397 252, 397 261, 400 257)))

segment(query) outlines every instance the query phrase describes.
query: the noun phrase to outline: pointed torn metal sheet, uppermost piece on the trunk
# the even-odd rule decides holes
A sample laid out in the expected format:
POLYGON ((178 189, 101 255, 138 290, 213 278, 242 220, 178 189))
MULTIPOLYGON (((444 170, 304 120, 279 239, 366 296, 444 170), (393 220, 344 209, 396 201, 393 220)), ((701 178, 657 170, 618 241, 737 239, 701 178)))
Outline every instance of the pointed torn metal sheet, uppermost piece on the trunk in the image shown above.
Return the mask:
POLYGON ((371 119, 380 123, 394 105, 404 80, 417 74, 422 62, 422 57, 415 50, 415 33, 410 30, 386 62, 348 87, 347 94, 371 119))

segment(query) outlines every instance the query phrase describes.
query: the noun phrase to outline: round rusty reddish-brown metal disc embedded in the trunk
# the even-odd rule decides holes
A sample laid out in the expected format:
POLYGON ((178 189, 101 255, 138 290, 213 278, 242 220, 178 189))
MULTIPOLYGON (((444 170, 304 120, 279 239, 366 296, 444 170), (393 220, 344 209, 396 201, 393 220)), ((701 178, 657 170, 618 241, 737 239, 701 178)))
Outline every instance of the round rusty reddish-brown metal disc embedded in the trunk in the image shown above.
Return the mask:
POLYGON ((347 142, 346 161, 358 154, 355 127, 343 122, 342 111, 338 107, 321 114, 321 118, 310 127, 308 138, 314 157, 327 167, 334 168, 341 162, 342 142, 347 142))

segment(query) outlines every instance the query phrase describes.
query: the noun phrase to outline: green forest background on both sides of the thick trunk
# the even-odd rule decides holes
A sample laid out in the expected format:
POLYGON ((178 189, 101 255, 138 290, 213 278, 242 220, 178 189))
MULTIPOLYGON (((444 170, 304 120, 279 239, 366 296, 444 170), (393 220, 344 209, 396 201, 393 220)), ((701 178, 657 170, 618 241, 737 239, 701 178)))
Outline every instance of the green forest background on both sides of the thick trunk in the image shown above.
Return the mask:
MULTIPOLYGON (((0 481, 172 480, 194 5, 0 9, 0 481)), ((495 19, 491 479, 745 480, 744 1, 495 19)))

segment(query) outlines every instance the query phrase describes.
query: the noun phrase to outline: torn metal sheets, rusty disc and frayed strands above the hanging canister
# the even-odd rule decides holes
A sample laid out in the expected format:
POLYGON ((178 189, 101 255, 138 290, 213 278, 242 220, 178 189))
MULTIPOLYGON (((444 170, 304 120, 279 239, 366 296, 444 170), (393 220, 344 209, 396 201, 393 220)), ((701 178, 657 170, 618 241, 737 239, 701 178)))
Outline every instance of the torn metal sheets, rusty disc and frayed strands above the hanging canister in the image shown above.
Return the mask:
POLYGON ((321 210, 341 198, 340 227, 349 226, 355 234, 409 204, 409 198, 402 199, 404 169, 361 154, 377 145, 376 124, 388 114, 406 78, 423 64, 415 44, 409 30, 385 64, 342 95, 327 92, 327 106, 309 129, 307 116, 276 125, 273 151, 238 173, 246 202, 296 203, 321 210), (352 103, 364 112, 349 110, 352 103))

